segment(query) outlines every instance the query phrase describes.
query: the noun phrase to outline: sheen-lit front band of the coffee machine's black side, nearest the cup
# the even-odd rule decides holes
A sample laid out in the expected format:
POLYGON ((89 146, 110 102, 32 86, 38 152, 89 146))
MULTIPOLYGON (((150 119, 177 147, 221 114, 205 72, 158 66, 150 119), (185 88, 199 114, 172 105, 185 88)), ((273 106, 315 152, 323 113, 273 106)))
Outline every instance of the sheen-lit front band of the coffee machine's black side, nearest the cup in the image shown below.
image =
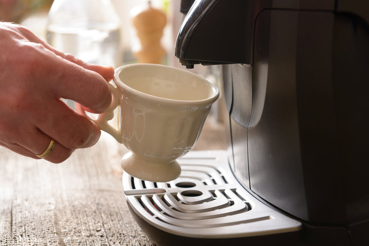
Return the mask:
POLYGON ((253 92, 248 158, 251 190, 307 220, 296 98, 297 17, 297 11, 265 10, 256 21, 254 88, 266 91, 262 113, 262 90, 253 92), (257 75, 266 66, 267 76, 257 75))

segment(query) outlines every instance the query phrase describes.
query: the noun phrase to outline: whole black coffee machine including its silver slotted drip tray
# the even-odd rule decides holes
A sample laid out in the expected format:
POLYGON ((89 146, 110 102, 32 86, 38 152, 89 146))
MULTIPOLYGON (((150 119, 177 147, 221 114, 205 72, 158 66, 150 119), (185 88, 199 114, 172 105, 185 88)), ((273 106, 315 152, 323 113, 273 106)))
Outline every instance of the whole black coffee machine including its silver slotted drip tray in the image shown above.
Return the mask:
POLYGON ((228 151, 190 152, 172 183, 124 174, 143 231, 158 246, 368 245, 369 2, 190 6, 175 56, 222 65, 228 151))

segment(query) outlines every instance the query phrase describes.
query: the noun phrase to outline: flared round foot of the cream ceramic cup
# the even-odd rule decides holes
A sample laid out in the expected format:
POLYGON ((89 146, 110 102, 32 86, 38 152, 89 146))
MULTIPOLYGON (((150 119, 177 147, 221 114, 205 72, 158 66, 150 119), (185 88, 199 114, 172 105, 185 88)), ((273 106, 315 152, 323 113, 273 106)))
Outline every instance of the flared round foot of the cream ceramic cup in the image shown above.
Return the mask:
POLYGON ((151 182, 169 182, 179 177, 181 167, 177 161, 154 163, 142 160, 129 152, 121 161, 121 166, 129 175, 151 182))

